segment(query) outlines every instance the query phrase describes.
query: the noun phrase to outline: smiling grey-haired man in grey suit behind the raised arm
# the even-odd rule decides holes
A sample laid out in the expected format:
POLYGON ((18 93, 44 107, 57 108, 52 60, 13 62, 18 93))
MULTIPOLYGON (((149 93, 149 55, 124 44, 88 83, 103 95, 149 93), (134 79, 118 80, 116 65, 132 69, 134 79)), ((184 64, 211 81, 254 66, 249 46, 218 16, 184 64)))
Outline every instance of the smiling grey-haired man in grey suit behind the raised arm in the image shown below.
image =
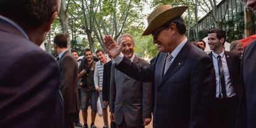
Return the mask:
MULTIPOLYGON (((121 35, 117 43, 122 43, 122 54, 140 66, 148 62, 134 54, 134 39, 129 34, 121 35)), ((114 68, 114 67, 113 67, 114 68)), ((111 70, 109 111, 117 128, 142 128, 151 121, 151 83, 140 82, 117 69, 111 70)))

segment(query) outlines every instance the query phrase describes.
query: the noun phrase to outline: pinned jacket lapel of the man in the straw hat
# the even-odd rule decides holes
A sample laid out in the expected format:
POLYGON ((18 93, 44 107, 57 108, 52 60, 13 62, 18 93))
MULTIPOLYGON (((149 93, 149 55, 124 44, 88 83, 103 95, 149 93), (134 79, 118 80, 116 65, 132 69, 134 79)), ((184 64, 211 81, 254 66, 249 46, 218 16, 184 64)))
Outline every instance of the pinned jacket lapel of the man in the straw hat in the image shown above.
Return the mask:
POLYGON ((166 71, 166 74, 163 75, 163 79, 161 80, 160 85, 162 85, 163 82, 168 80, 175 72, 177 72, 177 70, 179 70, 183 66, 185 58, 187 57, 187 48, 188 45, 190 45, 189 43, 190 42, 187 41, 186 44, 181 49, 181 51, 179 51, 179 53, 177 54, 176 58, 174 58, 173 62, 171 63, 171 66, 166 71))

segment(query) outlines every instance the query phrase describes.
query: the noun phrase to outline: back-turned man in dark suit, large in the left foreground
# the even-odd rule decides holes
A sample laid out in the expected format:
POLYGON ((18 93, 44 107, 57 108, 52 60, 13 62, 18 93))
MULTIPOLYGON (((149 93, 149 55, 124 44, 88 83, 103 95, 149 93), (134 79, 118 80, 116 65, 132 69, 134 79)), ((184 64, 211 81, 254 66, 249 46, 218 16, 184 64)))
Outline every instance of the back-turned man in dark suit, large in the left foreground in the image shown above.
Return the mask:
POLYGON ((58 65, 39 48, 59 2, 0 0, 0 127, 64 127, 58 65))

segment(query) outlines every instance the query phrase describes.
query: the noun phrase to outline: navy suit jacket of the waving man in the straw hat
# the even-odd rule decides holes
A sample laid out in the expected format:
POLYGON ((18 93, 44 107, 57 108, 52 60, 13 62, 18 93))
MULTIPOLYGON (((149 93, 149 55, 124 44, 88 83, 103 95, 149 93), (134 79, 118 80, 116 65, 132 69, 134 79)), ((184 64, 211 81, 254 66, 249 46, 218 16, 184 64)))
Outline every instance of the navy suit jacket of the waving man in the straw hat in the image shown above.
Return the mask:
POLYGON ((167 55, 159 53, 148 67, 124 58, 116 68, 137 80, 155 79, 154 127, 211 127, 209 113, 216 87, 211 59, 187 41, 163 75, 167 55))

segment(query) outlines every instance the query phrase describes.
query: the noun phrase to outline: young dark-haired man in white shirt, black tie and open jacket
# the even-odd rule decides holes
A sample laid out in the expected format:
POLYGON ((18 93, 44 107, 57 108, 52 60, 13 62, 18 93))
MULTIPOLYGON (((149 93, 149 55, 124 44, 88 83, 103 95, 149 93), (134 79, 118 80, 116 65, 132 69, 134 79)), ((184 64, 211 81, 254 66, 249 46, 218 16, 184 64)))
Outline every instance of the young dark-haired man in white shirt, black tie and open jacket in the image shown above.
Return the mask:
POLYGON ((224 51, 226 33, 213 29, 208 34, 209 53, 215 67, 216 95, 214 101, 215 127, 234 128, 241 97, 239 55, 224 51))

